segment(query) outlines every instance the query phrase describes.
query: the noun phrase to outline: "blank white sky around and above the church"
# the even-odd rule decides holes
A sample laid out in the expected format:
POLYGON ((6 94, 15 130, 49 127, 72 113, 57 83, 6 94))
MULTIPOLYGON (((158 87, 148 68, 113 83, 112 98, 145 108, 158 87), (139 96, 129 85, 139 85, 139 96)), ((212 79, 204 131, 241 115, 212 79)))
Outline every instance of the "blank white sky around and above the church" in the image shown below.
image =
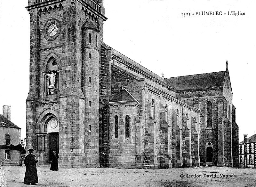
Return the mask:
MULTIPOLYGON (((29 91, 27 3, 0 0, 0 106, 11 105, 22 138, 29 91)), ((104 43, 159 76, 224 71, 228 61, 239 141, 256 132, 255 0, 104 0, 104 7, 104 43), (222 15, 195 15, 202 11, 222 15), (228 15, 231 11, 244 15, 228 15)))

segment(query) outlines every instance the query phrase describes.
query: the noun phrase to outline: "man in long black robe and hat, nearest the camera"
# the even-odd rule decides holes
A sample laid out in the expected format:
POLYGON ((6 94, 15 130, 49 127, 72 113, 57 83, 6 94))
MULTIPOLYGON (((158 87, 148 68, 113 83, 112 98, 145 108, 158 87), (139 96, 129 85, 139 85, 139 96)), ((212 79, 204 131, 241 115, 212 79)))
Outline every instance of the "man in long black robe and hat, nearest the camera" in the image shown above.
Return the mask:
POLYGON ((25 157, 24 164, 26 166, 26 173, 24 177, 24 184, 36 185, 38 183, 36 163, 36 155, 33 155, 33 149, 29 149, 29 154, 25 157))

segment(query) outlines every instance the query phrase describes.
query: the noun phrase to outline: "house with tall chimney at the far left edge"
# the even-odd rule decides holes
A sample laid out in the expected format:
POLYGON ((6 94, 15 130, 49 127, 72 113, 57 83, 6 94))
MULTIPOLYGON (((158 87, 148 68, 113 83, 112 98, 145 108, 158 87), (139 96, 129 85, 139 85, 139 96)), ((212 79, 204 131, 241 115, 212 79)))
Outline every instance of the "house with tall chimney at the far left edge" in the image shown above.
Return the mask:
POLYGON ((3 106, 0 114, 0 162, 2 165, 20 165, 20 127, 10 121, 11 106, 3 106))

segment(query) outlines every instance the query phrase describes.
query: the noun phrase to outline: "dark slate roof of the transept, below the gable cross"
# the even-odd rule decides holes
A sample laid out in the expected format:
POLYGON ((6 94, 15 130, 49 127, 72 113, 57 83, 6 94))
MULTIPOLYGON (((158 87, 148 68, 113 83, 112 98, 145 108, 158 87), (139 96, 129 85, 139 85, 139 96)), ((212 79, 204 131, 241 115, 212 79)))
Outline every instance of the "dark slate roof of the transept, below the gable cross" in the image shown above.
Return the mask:
POLYGON ((226 71, 165 78, 177 90, 203 89, 221 86, 226 71))

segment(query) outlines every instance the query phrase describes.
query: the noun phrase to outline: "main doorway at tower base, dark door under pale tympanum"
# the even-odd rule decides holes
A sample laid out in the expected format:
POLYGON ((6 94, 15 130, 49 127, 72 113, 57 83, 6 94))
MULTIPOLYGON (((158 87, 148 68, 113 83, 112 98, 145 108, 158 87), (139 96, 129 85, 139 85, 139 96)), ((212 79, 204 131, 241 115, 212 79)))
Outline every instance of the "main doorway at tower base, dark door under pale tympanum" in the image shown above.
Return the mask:
POLYGON ((53 151, 59 154, 59 123, 57 119, 50 118, 47 123, 47 136, 49 140, 49 163, 52 163, 53 151))

